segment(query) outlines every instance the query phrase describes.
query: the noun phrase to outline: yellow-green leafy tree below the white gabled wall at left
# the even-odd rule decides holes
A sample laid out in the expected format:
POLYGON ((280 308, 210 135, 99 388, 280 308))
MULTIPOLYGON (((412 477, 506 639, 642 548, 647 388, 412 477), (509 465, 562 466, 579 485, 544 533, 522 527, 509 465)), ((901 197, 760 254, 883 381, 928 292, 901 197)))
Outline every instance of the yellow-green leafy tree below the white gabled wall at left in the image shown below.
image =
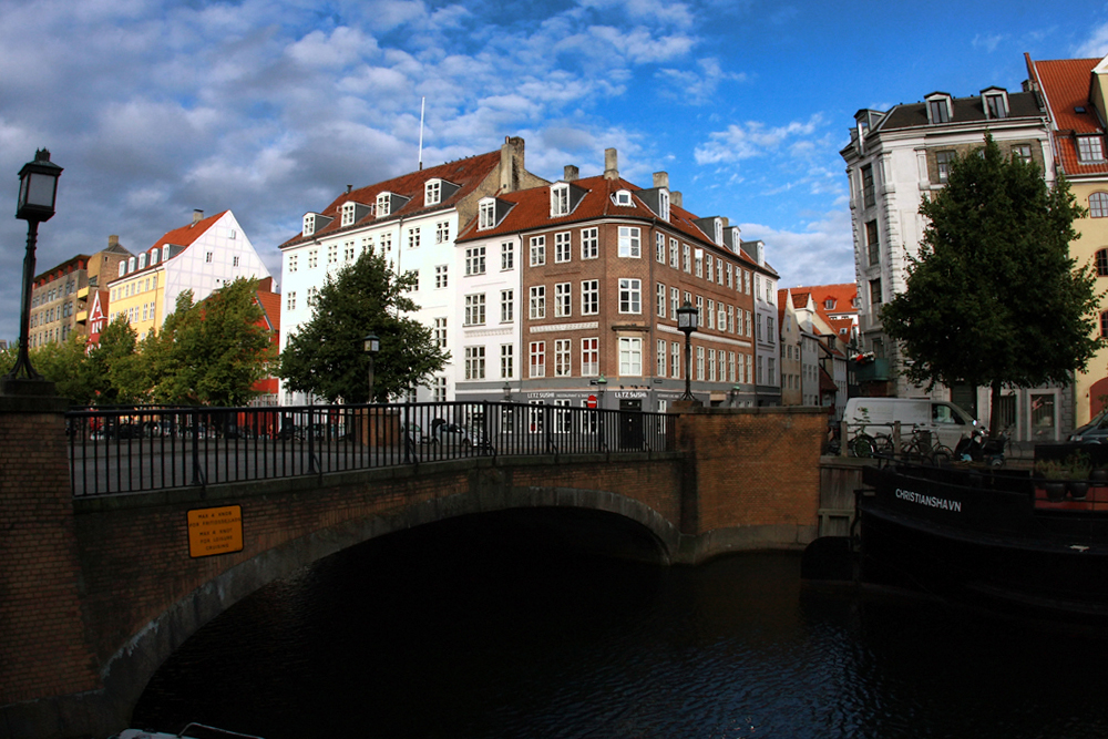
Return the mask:
POLYGON ((254 384, 276 359, 264 325, 257 280, 238 278, 201 302, 177 296, 162 330, 143 341, 143 371, 163 403, 234 407, 258 394, 254 384))

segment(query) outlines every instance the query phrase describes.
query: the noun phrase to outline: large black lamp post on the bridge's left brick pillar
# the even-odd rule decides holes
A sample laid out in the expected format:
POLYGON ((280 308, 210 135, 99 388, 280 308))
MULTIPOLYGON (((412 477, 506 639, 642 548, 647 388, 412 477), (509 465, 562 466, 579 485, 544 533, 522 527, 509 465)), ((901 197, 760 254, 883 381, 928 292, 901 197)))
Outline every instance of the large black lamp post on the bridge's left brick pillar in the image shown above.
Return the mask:
POLYGON ((34 280, 34 245, 39 238, 39 224, 54 216, 54 198, 58 195, 58 177, 62 168, 50 161, 50 152, 40 148, 34 161, 28 162, 19 171, 19 205, 16 217, 27 222, 27 256, 23 257, 23 305, 19 315, 19 357, 16 366, 4 377, 7 380, 41 380, 42 376, 31 367, 28 353, 31 327, 31 283, 34 280))

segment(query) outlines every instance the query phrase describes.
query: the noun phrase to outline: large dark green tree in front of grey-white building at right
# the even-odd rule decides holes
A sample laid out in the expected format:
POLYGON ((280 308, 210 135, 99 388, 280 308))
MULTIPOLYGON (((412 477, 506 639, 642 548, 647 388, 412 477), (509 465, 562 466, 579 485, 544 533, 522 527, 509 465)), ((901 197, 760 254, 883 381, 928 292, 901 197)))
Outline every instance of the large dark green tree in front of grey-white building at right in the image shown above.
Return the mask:
POLYGON ((1069 257, 1084 212, 1065 178, 1047 187, 1037 166, 1005 158, 986 134, 920 213, 930 224, 883 329, 911 358, 911 381, 988 386, 999 433, 1004 387, 1068 384, 1100 346, 1096 277, 1069 257))

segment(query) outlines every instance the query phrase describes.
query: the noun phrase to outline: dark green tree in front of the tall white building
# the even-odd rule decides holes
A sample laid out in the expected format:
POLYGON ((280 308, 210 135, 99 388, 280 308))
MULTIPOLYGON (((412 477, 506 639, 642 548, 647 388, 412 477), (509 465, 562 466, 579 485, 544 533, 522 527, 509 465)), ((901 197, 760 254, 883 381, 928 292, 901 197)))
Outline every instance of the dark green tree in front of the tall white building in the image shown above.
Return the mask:
POLYGON ((369 358, 362 339, 381 339, 373 368, 373 400, 386 400, 422 384, 442 369, 449 355, 431 330, 407 317, 419 307, 406 294, 414 275, 398 277, 384 257, 367 252, 326 283, 314 298, 311 320, 289 336, 278 374, 290 390, 335 402, 369 400, 369 358))

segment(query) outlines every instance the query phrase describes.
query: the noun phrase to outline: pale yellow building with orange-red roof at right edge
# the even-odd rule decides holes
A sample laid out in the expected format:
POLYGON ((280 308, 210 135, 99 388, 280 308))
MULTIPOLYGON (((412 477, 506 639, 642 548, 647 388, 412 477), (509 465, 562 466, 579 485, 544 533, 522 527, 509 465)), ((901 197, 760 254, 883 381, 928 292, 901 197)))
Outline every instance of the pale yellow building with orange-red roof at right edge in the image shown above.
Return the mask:
MULTIPOLYGON (((1070 244, 1078 265, 1097 274, 1098 292, 1108 292, 1108 57, 1033 61, 1025 54, 1027 74, 1050 116, 1055 163, 1069 181, 1078 204, 1088 209, 1074 226, 1080 238, 1070 244)), ((1108 337, 1108 297, 1101 301, 1097 330, 1108 337)), ((1089 421, 1108 406, 1108 348, 1094 357, 1074 379, 1074 425, 1089 421)))

